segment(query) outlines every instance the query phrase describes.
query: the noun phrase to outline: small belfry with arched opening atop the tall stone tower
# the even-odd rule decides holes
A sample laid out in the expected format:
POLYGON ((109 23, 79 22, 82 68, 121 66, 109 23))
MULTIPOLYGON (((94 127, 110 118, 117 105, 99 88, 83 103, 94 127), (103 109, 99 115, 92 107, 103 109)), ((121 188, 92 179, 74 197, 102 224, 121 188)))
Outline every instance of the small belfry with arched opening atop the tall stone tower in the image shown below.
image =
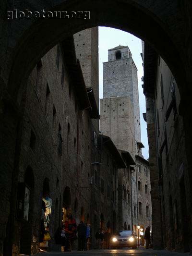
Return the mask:
POLYGON ((108 49, 108 61, 132 58, 132 53, 128 46, 119 45, 115 48, 108 49))

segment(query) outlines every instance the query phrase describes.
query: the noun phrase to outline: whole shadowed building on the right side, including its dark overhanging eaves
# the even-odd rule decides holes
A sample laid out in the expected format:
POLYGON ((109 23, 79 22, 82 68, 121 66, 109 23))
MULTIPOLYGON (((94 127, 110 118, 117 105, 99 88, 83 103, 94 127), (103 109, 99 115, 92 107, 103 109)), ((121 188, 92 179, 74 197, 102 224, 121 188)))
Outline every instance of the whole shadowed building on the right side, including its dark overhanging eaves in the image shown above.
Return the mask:
POLYGON ((156 197, 152 200, 153 236, 158 237, 164 248, 188 252, 192 232, 191 198, 180 92, 166 62, 147 44, 144 45, 144 94, 150 172, 154 181, 152 196, 156 197))

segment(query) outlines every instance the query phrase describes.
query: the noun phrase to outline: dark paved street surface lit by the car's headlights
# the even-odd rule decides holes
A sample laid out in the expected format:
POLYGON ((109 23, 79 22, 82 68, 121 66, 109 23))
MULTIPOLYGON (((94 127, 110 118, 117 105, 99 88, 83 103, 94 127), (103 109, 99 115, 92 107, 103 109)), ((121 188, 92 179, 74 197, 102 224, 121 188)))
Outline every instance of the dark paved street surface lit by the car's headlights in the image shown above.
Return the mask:
POLYGON ((72 251, 72 252, 50 252, 40 253, 38 256, 187 256, 189 253, 176 253, 166 250, 146 250, 146 249, 109 249, 109 250, 88 250, 85 252, 72 251))

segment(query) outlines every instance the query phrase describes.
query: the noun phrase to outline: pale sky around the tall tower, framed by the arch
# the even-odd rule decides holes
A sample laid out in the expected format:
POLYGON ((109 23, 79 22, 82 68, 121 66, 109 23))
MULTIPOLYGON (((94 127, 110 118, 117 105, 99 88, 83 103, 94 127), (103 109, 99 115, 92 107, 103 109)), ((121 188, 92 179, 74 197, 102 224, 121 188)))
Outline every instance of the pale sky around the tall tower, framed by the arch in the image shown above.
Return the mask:
POLYGON ((108 61, 108 49, 116 46, 123 45, 129 47, 132 52, 132 59, 138 69, 138 87, 139 87, 139 105, 140 105, 140 119, 141 119, 141 139, 144 144, 142 154, 145 159, 148 155, 148 141, 146 122, 143 118, 145 109, 145 97, 143 94, 141 77, 143 76, 142 58, 140 53, 142 52, 141 39, 118 29, 109 27, 99 27, 99 98, 103 98, 103 62, 108 61))

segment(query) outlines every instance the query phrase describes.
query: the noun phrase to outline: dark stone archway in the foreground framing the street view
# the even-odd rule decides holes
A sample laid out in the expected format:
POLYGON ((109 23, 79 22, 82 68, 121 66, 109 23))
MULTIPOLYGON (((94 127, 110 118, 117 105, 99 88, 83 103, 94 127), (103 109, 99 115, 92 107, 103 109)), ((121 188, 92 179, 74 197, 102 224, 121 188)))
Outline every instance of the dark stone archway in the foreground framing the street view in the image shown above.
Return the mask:
MULTIPOLYGON (((27 0, 25 4, 26 6, 29 4, 33 11, 36 10, 33 0, 27 0)), ((151 1, 150 5, 143 0, 115 0, 113 2, 107 0, 105 3, 101 0, 86 0, 84 3, 80 0, 58 0, 57 5, 53 2, 50 7, 46 4, 41 6, 39 3, 38 7, 39 9, 44 8, 46 11, 89 10, 93 15, 90 16, 90 20, 43 19, 27 20, 24 23, 22 19, 17 19, 2 22, 1 30, 4 38, 0 45, 3 52, 0 59, 0 67, 2 67, 0 73, 0 110, 2 110, 0 111, 0 122, 5 123, 6 126, 0 127, 0 134, 4 138, 1 143, 4 150, 0 155, 3 160, 0 162, 3 163, 2 170, 6 166, 7 179, 5 181, 0 179, 0 183, 2 187, 10 187, 5 198, 8 206, 11 195, 12 171, 15 168, 14 149, 18 135, 16 131, 19 126, 20 109, 17 103, 20 103, 22 88, 35 64, 49 49, 66 37, 88 27, 106 25, 131 32, 151 43, 168 63, 180 87, 180 112, 185 115, 185 129, 188 132, 186 136, 190 138, 187 145, 187 154, 190 159, 190 141, 192 141, 190 123, 192 122, 183 110, 185 106, 190 108, 191 101, 184 99, 186 97, 190 99, 192 95, 192 50, 190 48, 192 45, 190 33, 192 18, 188 14, 189 10, 192 9, 192 4, 189 1, 185 1, 185 3, 183 1, 177 6, 176 1, 172 1, 167 6, 166 2, 162 0, 151 1), (108 12, 108 6, 110 6, 110 12, 108 12), (174 15, 170 15, 170 12, 174 15), (178 23, 175 22, 177 19, 179 20, 178 23), (186 94, 186 92, 188 93, 186 94), (12 135, 9 137, 8 134, 12 135)), ((2 6, 2 16, 6 13, 7 8, 12 10, 13 6, 5 3, 2 6)), ((15 3, 14 9, 22 10, 21 1, 15 3)), ((191 160, 189 162, 189 166, 192 166, 191 160)), ((9 212, 2 213, 6 221, 8 215, 9 212)), ((2 228, 5 232, 6 225, 3 224, 2 228)))

